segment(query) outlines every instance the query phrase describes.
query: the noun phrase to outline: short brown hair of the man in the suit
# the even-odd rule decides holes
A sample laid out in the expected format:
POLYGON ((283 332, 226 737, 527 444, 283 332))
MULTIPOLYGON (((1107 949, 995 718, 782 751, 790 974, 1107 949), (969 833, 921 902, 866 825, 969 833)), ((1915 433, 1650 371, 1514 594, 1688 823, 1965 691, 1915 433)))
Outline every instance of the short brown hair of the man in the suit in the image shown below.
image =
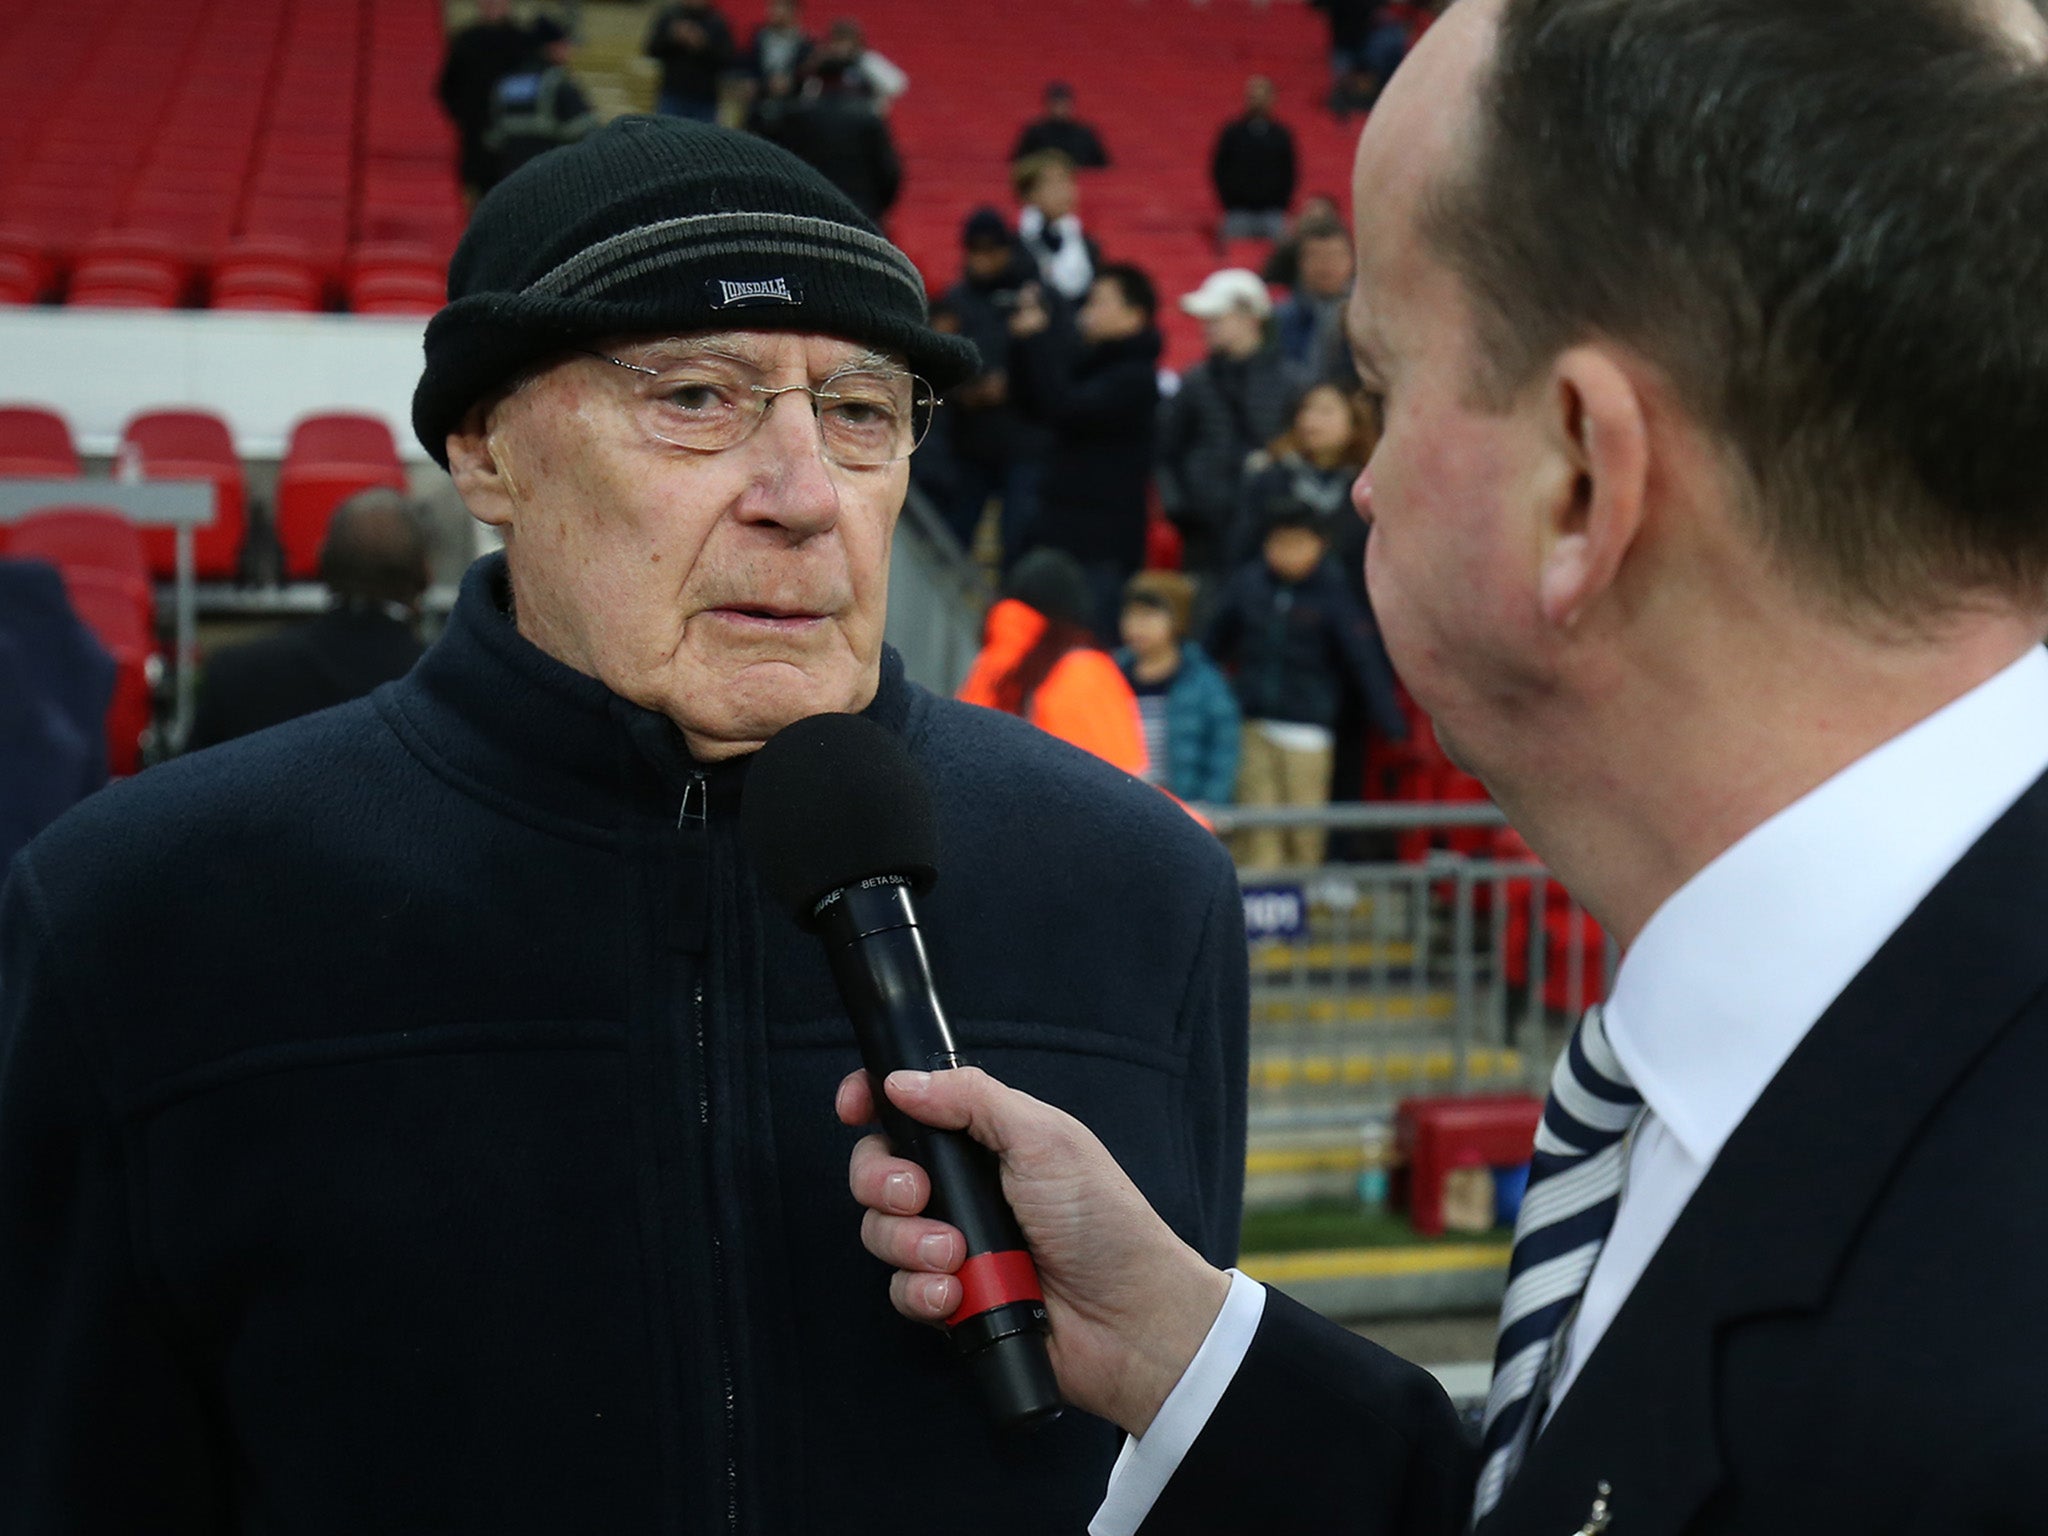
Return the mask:
POLYGON ((1618 342, 1837 614, 2040 608, 2044 76, 1970 0, 1507 0, 1425 213, 1481 399, 1618 342))

